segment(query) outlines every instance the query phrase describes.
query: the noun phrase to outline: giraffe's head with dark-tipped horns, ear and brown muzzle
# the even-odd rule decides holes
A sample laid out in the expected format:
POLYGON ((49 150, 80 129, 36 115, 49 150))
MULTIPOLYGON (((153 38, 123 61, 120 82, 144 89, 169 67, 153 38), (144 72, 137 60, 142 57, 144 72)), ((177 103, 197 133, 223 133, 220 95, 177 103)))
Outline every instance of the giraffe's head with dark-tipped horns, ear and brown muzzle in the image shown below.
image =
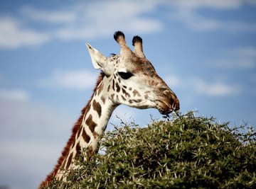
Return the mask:
POLYGON ((105 57, 91 45, 86 44, 95 69, 105 73, 104 85, 107 96, 115 105, 125 104, 134 108, 157 108, 161 114, 179 110, 179 101, 171 88, 156 74, 153 65, 146 59, 142 38, 134 36, 130 50, 124 33, 114 33, 120 47, 120 55, 105 57))

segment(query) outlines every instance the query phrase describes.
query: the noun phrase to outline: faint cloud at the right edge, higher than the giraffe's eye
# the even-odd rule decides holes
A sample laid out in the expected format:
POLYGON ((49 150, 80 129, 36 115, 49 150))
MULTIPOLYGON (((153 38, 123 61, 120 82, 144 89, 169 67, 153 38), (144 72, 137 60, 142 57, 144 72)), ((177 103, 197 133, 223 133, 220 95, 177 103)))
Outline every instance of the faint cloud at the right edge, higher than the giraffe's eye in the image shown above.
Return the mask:
POLYGON ((210 65, 221 69, 254 69, 256 67, 256 48, 238 47, 228 50, 220 59, 210 61, 210 65))

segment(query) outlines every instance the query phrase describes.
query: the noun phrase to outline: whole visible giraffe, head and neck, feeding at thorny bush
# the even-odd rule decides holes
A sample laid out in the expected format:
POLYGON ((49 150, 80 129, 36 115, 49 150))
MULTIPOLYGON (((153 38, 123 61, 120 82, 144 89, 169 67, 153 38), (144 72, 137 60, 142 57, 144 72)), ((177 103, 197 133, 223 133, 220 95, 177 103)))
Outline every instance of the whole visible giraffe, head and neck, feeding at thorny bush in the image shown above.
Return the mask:
POLYGON ((47 186, 54 177, 65 181, 63 171, 75 168, 73 162, 82 149, 87 149, 90 154, 97 151, 97 139, 105 132, 107 122, 118 105, 139 109, 157 108, 163 115, 179 110, 176 94, 146 59, 142 38, 134 36, 134 51, 127 46, 121 31, 114 33, 114 40, 119 43, 121 50, 120 55, 111 57, 105 57, 86 43, 92 64, 95 69, 101 69, 101 73, 58 163, 39 188, 47 186))

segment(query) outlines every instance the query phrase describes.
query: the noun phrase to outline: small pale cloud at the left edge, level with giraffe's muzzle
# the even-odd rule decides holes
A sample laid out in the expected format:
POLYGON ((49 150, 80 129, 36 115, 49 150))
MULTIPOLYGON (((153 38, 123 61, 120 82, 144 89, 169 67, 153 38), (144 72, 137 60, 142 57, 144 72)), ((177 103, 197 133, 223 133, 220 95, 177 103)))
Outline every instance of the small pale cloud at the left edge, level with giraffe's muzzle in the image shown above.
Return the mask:
POLYGON ((8 101, 28 101, 30 95, 27 91, 20 89, 1 89, 0 98, 8 101))

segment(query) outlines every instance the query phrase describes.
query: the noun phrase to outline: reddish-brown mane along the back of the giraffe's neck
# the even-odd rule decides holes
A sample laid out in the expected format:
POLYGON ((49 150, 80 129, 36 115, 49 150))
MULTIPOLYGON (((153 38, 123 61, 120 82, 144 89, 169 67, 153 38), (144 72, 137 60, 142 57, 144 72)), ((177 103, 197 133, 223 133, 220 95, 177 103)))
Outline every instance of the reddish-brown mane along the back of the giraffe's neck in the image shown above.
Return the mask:
MULTIPOLYGON (((94 95, 94 93, 95 93, 95 91, 97 89, 97 86, 100 84, 100 82, 102 81, 104 76, 105 76, 104 72, 101 71, 100 75, 97 78, 97 82, 95 84, 95 88, 93 89, 92 96, 94 95)), ((75 122, 75 125, 73 126, 73 129, 72 129, 71 137, 68 139, 68 142, 65 145, 65 147, 64 147, 64 149, 63 149, 63 151, 61 153, 61 156, 59 157, 59 159, 57 161, 57 164, 55 165, 53 171, 50 174, 48 174, 48 176, 46 177, 46 181, 43 181, 39 188, 48 185, 48 183, 53 180, 53 176, 55 176, 55 174, 58 172, 58 169, 60 168, 61 164, 63 164, 65 156, 68 155, 68 151, 69 151, 71 145, 73 144, 73 142, 75 140, 75 134, 77 134, 77 132, 79 130, 79 127, 82 125, 83 116, 85 115, 85 111, 87 110, 87 108, 90 105, 90 102, 92 100, 92 96, 91 96, 90 100, 87 102, 87 105, 85 105, 85 107, 82 108, 80 118, 78 118, 77 122, 75 122)))

